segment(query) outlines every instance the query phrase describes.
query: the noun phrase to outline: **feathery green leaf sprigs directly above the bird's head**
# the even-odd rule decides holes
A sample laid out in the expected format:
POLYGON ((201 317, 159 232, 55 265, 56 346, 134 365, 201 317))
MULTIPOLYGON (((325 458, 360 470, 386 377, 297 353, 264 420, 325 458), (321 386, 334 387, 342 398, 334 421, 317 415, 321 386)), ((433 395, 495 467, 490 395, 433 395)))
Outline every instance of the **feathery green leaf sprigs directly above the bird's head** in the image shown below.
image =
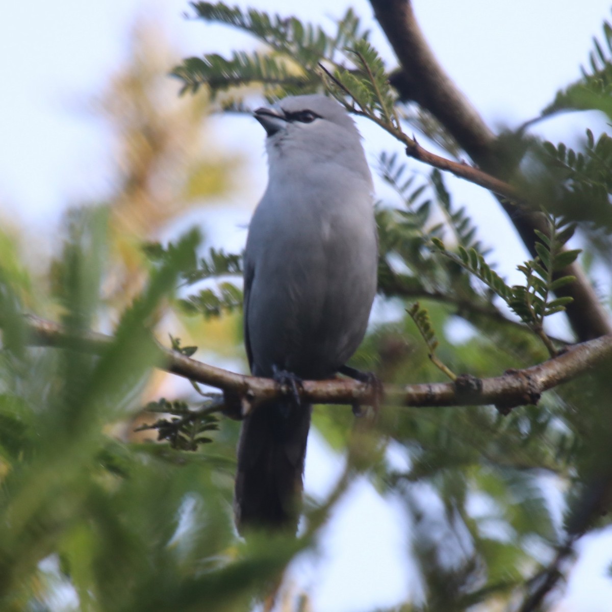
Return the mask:
MULTIPOLYGON (((332 94, 346 106, 400 131, 396 96, 383 61, 352 9, 330 35, 295 17, 271 17, 266 12, 243 11, 222 2, 195 2, 192 7, 199 18, 248 32, 264 43, 269 53, 236 51, 229 59, 218 54, 187 58, 173 71, 183 83, 183 92, 195 93, 206 84, 214 97, 220 91, 258 83, 267 97, 280 92, 305 94, 320 89, 323 76, 332 94), (334 69, 333 75, 325 65, 334 69)), ((231 101, 229 108, 241 105, 231 101)))

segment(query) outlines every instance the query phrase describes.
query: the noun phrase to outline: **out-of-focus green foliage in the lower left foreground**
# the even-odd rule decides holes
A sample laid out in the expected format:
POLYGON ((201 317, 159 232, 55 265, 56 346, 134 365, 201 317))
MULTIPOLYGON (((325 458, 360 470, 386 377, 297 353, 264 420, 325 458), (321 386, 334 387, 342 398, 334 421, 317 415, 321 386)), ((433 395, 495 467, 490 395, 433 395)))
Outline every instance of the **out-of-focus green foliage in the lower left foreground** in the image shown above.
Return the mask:
MULTIPOLYGON (((53 264, 69 335, 105 313, 105 223, 102 209, 70 215, 53 264)), ((152 327, 197 244, 196 233, 174 242, 98 355, 70 343, 28 348, 22 298, 31 281, 0 262, 0 609, 59 610, 51 601, 73 592, 79 610, 245 610, 304 546, 236 542, 236 439, 211 415, 160 400, 149 408, 171 415, 158 427, 170 444, 110 433, 139 409, 162 363, 152 327)))

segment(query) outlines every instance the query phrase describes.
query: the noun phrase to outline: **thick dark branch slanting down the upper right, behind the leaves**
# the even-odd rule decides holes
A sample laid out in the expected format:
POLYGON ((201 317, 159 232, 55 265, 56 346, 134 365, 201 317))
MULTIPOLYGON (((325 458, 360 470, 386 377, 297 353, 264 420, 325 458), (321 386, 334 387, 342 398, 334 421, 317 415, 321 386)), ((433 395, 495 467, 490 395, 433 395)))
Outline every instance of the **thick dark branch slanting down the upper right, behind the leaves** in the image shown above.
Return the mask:
MULTIPOLYGON (((485 173, 505 181, 515 170, 515 164, 507 162, 496 136, 442 69, 420 31, 411 2, 370 0, 370 4, 400 62, 401 70, 393 81, 400 95, 430 111, 485 173)), ((534 230, 547 231, 542 217, 503 197, 498 200, 535 256, 534 230)), ((559 275, 576 277, 575 282, 557 293, 573 297, 567 316, 577 337, 588 340, 612 333, 608 313, 580 266, 572 264, 559 271, 559 275)))

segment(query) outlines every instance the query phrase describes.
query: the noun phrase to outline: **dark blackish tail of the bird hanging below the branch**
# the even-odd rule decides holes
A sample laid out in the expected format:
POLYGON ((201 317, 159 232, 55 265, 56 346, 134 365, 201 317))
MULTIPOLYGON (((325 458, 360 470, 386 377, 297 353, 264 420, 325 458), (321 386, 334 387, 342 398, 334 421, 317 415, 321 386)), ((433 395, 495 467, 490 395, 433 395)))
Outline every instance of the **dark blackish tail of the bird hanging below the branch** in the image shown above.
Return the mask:
POLYGON ((312 406, 276 400, 242 423, 234 510, 238 531, 297 530, 312 406))

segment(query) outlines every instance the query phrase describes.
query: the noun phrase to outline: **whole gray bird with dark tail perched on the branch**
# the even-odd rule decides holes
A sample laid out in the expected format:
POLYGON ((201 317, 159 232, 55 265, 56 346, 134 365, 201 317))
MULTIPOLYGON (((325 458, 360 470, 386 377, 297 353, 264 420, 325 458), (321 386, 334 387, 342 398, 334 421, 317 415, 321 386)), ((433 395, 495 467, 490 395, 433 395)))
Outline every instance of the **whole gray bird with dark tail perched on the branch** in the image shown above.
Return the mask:
MULTIPOLYGON (((362 341, 376 293, 370 169, 345 109, 323 95, 259 108, 269 176, 244 254, 244 336, 255 376, 324 379, 362 341)), ((297 528, 312 406, 291 398, 242 424, 239 530, 297 528)))

